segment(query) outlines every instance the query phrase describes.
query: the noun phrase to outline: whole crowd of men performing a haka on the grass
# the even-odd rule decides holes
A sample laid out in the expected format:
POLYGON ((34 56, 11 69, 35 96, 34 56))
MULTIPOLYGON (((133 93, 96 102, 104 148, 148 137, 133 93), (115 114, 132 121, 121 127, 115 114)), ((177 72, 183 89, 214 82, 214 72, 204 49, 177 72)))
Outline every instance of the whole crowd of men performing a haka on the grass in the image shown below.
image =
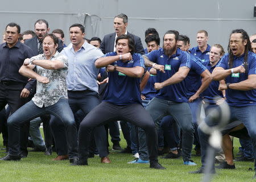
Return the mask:
POLYGON ((212 117, 211 111, 223 102, 230 118, 221 131, 224 158, 218 168, 235 168, 229 135, 241 138, 240 160, 254 159, 256 36, 250 40, 246 31, 233 30, 225 54, 220 44, 207 44, 205 30, 197 32, 196 47, 190 48, 189 38, 176 30, 164 34, 160 47, 158 32, 148 28, 143 49, 141 38, 127 26, 127 16, 118 14, 115 32, 101 41, 86 40, 84 26, 72 24, 66 46, 63 31, 50 34, 44 19, 35 22, 35 32, 22 35, 18 24, 7 24, 0 44, 0 129, 7 155, 0 160, 26 158, 31 138, 33 151, 51 155, 54 146, 53 160, 88 165, 88 158, 98 154, 101 163, 110 163, 109 132, 113 150, 135 157, 129 163, 150 163, 155 169, 165 169, 158 163, 164 146, 164 158, 182 156, 184 165, 196 166, 191 160, 195 144, 202 166, 192 173, 203 173, 209 136, 200 125, 201 109, 205 123, 216 125, 221 114, 212 117))

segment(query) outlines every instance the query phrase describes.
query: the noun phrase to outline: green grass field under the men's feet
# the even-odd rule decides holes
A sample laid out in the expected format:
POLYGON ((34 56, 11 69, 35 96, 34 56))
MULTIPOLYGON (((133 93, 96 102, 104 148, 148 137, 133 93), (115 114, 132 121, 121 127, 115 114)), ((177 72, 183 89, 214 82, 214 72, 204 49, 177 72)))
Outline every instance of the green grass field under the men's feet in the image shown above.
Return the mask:
MULTIPOLYGON (((1 137, 1 136, 0 136, 1 137)), ((2 139, 2 137, 1 137, 2 139)), ((2 146, 2 140, 0 141, 2 146)), ((121 146, 125 147, 122 138, 121 146)), ((238 148, 238 140, 234 142, 235 154, 238 148)), ((194 153, 194 151, 193 151, 194 153)), ((0 156, 5 156, 3 150, 0 156)), ((46 156, 43 152, 29 152, 28 157, 20 162, 0 162, 1 182, 34 182, 34 181, 201 181, 202 175, 189 174, 189 171, 200 167, 200 158, 192 157, 198 166, 184 166, 182 159, 162 159, 159 162, 166 170, 150 169, 149 164, 127 164, 133 160, 131 154, 118 154, 110 152, 111 164, 101 164, 100 158, 95 156, 88 160, 89 166, 69 166, 69 161, 53 162, 56 157, 46 156)), ((252 162, 236 162, 236 169, 218 169, 212 181, 255 181, 252 179, 254 172, 248 171, 253 168, 252 162)))

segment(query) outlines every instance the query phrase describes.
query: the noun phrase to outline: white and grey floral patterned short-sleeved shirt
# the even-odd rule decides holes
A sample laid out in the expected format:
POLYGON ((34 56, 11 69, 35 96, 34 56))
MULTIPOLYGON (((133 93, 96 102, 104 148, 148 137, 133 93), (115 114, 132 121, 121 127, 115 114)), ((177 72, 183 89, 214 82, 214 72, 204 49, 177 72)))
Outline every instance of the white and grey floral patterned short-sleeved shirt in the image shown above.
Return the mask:
MULTIPOLYGON (((44 54, 40 54, 31 59, 46 60, 44 54)), ((46 69, 38 65, 35 66, 34 71, 38 75, 47 77, 49 79, 48 84, 42 82, 36 82, 36 94, 32 98, 32 101, 38 107, 47 107, 55 104, 60 98, 68 98, 66 77, 68 75, 68 59, 66 56, 61 55, 56 51, 55 55, 49 59, 49 61, 63 61, 64 68, 61 69, 46 69)))

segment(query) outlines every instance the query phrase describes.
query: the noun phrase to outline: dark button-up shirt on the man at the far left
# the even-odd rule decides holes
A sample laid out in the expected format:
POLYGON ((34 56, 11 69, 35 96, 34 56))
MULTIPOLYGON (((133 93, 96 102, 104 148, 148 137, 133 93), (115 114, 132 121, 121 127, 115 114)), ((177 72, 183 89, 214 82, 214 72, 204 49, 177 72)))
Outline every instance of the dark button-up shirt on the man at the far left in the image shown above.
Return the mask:
POLYGON ((11 48, 6 43, 0 44, 0 81, 26 83, 28 78, 19 74, 19 68, 32 56, 32 49, 19 41, 11 48))

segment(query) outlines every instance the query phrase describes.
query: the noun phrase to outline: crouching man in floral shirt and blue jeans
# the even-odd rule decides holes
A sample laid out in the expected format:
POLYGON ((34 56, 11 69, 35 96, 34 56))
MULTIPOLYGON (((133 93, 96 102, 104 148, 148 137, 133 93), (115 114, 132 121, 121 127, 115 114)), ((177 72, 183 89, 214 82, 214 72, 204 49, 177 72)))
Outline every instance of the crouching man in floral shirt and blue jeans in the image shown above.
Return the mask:
POLYGON ((69 159, 75 162, 78 158, 76 123, 67 100, 68 60, 56 51, 57 43, 56 36, 46 35, 43 38, 44 53, 24 60, 19 69, 21 75, 36 79, 36 94, 9 117, 9 154, 1 160, 20 160, 20 125, 43 114, 55 115, 64 123, 69 159))

